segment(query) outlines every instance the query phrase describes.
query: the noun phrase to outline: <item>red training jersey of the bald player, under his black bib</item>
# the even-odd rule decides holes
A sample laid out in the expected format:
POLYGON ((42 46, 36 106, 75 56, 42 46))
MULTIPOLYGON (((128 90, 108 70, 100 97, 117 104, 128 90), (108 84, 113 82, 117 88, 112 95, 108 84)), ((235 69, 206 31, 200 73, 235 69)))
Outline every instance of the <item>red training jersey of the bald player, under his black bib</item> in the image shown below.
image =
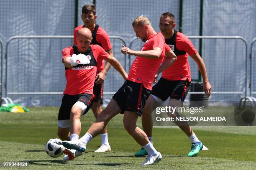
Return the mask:
MULTIPOLYGON (((99 45, 90 45, 90 47, 92 48, 92 54, 96 61, 108 58, 108 52, 99 45)), ((64 48, 62 50, 62 59, 71 57, 72 54, 74 54, 72 47, 64 48)), ((65 73, 67 85, 63 93, 67 95, 93 94, 96 70, 96 67, 91 65, 67 69, 65 73)))

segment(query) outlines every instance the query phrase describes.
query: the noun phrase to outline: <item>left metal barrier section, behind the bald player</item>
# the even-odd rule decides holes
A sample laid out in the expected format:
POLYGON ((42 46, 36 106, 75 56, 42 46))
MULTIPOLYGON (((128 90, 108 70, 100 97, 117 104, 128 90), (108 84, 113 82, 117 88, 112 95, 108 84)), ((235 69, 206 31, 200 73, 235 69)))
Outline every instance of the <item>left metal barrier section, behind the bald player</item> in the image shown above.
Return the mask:
MULTIPOLYGON (((126 45, 125 40, 123 37, 119 36, 109 37, 113 46, 114 56, 126 70, 127 59, 126 57, 122 57, 124 54, 122 54, 120 50, 122 45, 126 45), (117 42, 117 40, 120 42, 117 42), (117 49, 116 46, 119 48, 117 49)), ((61 63, 61 50, 72 45, 73 36, 11 37, 7 42, 5 54, 5 97, 10 95, 61 95, 66 84, 64 66, 61 63), (63 41, 63 39, 66 41, 63 41), (60 42, 54 43, 56 40, 60 42), (67 42, 67 40, 70 42, 67 42), (41 49, 41 46, 45 45, 46 47, 42 47, 43 49, 41 49), (55 47, 54 45, 57 45, 58 47, 55 47), (17 50, 13 50, 11 47, 16 48, 17 50), (22 65, 23 68, 21 68, 20 65, 22 65), (23 80, 22 78, 25 77, 26 80, 23 80), (36 86, 40 87, 36 88, 36 86)), ((119 73, 116 73, 113 68, 110 68, 106 75, 104 86, 109 86, 111 88, 105 88, 105 94, 113 94, 118 90, 114 89, 114 87, 119 88, 123 84, 123 77, 118 74, 119 73)))

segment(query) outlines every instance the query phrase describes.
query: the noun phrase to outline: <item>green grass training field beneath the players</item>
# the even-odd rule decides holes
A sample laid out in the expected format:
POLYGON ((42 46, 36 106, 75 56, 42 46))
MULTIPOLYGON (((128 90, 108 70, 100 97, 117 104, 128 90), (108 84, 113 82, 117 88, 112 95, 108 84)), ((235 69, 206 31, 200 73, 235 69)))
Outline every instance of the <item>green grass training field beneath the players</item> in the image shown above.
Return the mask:
MULTIPOLYGON (((146 157, 135 158, 140 146, 123 128, 123 116, 118 115, 108 124, 111 152, 94 153, 100 144, 96 137, 87 145, 87 151, 75 160, 63 161, 49 157, 45 143, 57 137, 59 107, 31 107, 27 113, 0 112, 0 162, 26 161, 28 169, 145 169, 146 157)), ((82 117, 82 133, 95 118, 92 112, 82 117)), ((141 119, 138 120, 141 127, 141 119)), ((151 169, 256 169, 256 127, 194 127, 197 137, 209 150, 188 158, 190 141, 177 127, 154 128, 153 143, 163 156, 151 169)), ((0 166, 0 169, 3 169, 0 166)), ((13 167, 12 169, 19 169, 13 167)), ((26 169, 27 169, 26 168, 26 169)), ((146 167, 149 168, 149 167, 146 167)))

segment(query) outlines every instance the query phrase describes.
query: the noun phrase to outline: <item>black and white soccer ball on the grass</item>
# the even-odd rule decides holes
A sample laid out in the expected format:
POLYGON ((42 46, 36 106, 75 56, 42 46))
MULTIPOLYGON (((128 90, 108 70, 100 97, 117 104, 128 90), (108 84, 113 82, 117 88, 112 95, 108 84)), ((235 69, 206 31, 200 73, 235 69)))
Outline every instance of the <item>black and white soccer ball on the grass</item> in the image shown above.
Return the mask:
POLYGON ((61 145, 60 139, 50 139, 45 145, 47 155, 52 158, 60 157, 64 153, 64 146, 61 145))

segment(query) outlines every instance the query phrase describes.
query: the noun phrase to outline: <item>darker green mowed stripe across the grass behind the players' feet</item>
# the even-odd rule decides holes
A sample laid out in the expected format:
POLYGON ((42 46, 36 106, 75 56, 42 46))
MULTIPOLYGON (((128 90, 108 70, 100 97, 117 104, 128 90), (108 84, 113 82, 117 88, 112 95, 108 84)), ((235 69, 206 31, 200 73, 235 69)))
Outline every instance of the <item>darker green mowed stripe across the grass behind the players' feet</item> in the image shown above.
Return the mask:
MULTIPOLYGON (((85 133, 85 129, 87 128, 82 128, 81 135, 85 133)), ((40 128, 33 125, 27 128, 19 128, 19 125, 17 125, 17 128, 8 129, 5 127, 0 130, 2 141, 40 144, 42 146, 50 138, 58 138, 56 134, 56 126, 40 128)), ((186 157, 190 150, 191 144, 189 139, 180 129, 154 128, 153 134, 153 144, 163 154, 186 157)), ((201 151, 199 156, 230 160, 256 160, 254 135, 236 135, 203 130, 197 130, 196 134, 203 144, 209 148, 207 151, 201 151)), ((124 128, 108 128, 108 136, 111 148, 116 152, 131 152, 131 155, 133 155, 133 153, 140 149, 140 146, 124 128)), ((100 143, 100 136, 97 136, 90 142, 88 149, 96 150, 100 143)))

